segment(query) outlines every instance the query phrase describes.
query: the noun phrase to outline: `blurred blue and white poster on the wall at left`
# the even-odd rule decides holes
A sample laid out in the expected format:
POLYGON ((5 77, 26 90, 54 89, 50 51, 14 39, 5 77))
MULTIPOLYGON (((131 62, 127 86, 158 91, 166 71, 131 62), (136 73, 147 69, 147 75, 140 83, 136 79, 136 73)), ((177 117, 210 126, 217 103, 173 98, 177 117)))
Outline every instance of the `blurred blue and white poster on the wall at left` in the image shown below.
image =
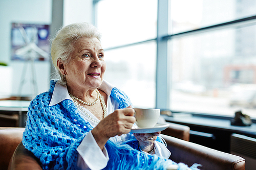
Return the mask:
POLYGON ((48 61, 49 25, 12 23, 11 60, 48 61))

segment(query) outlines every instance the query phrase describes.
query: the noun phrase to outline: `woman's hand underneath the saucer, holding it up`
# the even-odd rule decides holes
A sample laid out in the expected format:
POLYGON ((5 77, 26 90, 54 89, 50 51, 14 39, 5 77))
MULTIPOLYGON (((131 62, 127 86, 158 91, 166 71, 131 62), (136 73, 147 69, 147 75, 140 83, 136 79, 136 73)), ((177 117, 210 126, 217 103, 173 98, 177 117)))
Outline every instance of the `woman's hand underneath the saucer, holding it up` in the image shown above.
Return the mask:
MULTIPOLYGON (((154 149, 154 141, 157 139, 157 136, 160 135, 160 132, 156 133, 134 133, 134 136, 139 141, 139 147, 144 152, 150 152, 154 149)), ((155 151, 153 152, 153 154, 155 151)))

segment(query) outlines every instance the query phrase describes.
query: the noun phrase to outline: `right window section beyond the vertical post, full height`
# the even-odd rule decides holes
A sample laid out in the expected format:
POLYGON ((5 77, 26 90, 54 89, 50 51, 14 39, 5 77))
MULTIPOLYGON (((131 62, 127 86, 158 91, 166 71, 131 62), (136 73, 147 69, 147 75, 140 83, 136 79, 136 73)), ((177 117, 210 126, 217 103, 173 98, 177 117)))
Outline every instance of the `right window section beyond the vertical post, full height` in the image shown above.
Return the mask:
POLYGON ((242 21, 255 8, 253 0, 169 1, 171 110, 256 117, 256 25, 242 21))

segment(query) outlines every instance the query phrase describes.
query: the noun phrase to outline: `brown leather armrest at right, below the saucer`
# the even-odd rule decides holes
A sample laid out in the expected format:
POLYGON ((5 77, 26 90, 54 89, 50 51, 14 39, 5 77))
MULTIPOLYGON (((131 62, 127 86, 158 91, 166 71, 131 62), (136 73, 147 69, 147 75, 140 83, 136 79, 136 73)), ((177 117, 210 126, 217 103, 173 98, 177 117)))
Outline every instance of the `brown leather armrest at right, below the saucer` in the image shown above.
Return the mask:
POLYGON ((183 162, 188 166, 194 163, 202 165, 200 169, 207 170, 245 170, 245 160, 242 157, 220 152, 202 145, 161 134, 172 153, 169 159, 183 162))

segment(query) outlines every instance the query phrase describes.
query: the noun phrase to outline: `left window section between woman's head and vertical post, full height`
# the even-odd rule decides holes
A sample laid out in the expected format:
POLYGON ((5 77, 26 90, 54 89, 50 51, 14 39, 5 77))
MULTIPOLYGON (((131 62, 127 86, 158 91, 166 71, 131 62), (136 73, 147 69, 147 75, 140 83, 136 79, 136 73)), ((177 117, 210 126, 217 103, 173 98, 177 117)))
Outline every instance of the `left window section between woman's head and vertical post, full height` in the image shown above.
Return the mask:
POLYGON ((123 90, 134 107, 155 108, 157 0, 97 3, 104 79, 123 90))

